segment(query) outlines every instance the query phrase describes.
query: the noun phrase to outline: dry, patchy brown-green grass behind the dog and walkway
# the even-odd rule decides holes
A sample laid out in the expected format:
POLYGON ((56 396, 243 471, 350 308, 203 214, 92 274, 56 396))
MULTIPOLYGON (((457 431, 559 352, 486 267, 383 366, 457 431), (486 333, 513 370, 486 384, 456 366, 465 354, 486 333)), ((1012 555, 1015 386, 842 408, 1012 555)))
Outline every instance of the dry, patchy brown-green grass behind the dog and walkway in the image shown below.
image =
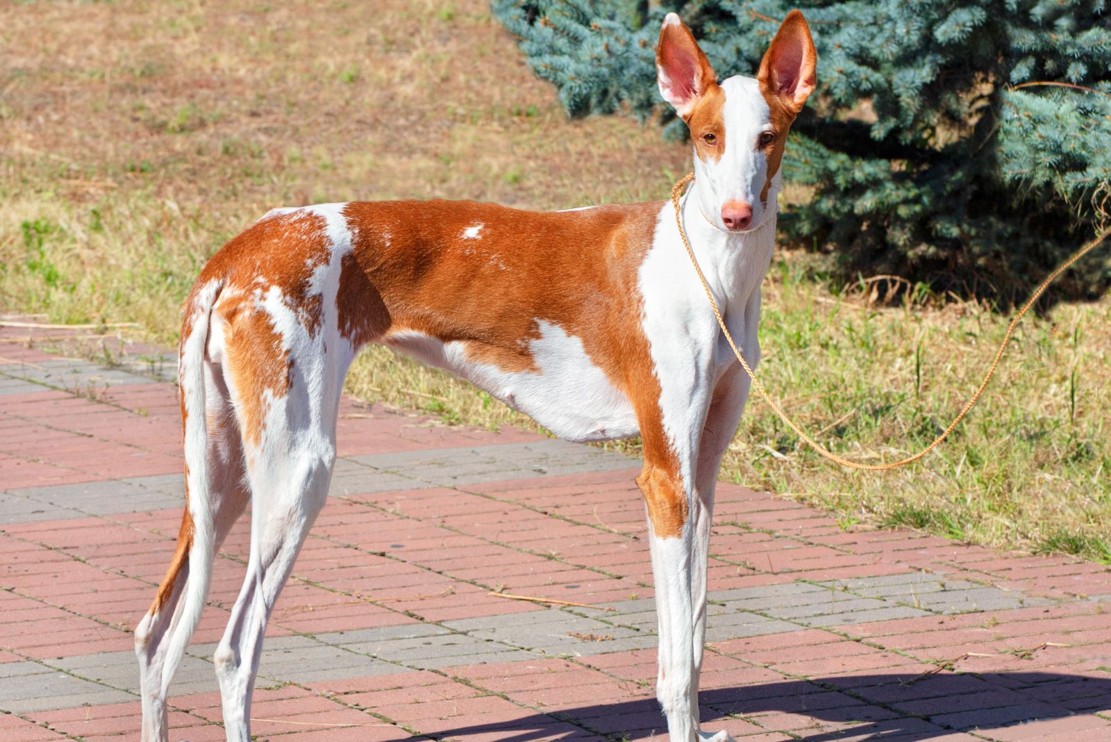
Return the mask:
MULTIPOLYGON (((478 0, 7 4, 0 70, 0 309, 136 320, 162 342, 207 257, 271 207, 565 208, 661 199, 687 169, 687 149, 654 127, 567 121, 478 0)), ((839 451, 920 445, 973 385, 1004 318, 878 309, 824 275, 810 255, 777 261, 761 374, 839 451)), ((1109 338, 1108 300, 1028 322, 959 435, 884 477, 820 463, 753 401, 725 475, 845 523, 1108 559, 1109 338)), ((529 424, 381 349, 349 388, 449 420, 529 424)))

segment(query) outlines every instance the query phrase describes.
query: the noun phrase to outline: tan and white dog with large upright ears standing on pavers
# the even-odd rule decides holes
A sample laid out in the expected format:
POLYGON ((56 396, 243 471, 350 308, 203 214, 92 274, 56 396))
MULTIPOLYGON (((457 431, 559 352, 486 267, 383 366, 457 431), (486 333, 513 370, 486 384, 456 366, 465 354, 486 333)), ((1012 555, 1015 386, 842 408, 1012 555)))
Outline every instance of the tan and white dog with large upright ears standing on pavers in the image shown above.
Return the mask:
MULTIPOLYGON (((694 142, 684 229, 753 367, 780 159, 815 61, 799 11, 757 79, 719 83, 674 13, 660 32, 660 92, 694 142)), ((136 629, 143 740, 168 739, 167 689, 204 606, 216 550, 250 501, 247 578, 214 654, 228 739, 249 740, 267 620, 324 504, 343 377, 369 342, 468 379, 562 438, 643 439, 637 483, 659 614, 657 695, 672 740, 729 739, 700 731, 698 688, 714 483, 749 381, 707 305, 671 203, 547 213, 470 201, 277 209, 212 258, 183 311, 187 505, 177 553, 136 629)))

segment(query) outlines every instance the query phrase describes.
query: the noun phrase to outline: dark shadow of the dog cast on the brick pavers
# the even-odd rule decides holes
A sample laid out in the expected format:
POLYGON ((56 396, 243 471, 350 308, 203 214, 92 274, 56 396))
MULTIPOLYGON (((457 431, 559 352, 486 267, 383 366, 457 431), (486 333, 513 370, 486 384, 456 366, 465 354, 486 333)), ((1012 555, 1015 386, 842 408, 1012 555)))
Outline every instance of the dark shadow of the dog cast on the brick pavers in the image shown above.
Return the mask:
MULTIPOLYGON (((911 741, 1028 723, 1042 725, 1037 728, 1039 736, 1072 732, 1079 738, 1111 730, 1111 724, 1092 715, 1111 709, 1111 674, 1107 679, 1035 671, 837 675, 709 689, 702 691, 701 701, 703 728, 728 729, 737 738, 772 730, 789 731, 808 742, 911 741)), ((584 734, 582 726, 614 739, 667 735, 654 698, 552 708, 548 714, 489 725, 450 728, 450 720, 444 724, 448 728, 437 730, 436 736, 529 742, 577 738, 584 734)), ((1029 735, 1034 730, 1024 731, 1029 735)))

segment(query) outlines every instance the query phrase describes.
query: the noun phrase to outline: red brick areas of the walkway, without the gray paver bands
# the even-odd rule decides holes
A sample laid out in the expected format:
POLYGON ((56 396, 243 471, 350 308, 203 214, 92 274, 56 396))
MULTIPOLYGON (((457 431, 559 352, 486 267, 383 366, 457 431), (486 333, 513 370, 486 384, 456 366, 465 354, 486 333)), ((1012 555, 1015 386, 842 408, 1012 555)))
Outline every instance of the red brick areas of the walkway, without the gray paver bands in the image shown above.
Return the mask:
MULTIPOLYGON (((0 328, 0 338, 12 334, 0 328)), ((0 372, 57 358, 18 343, 2 355, 0 372)), ((121 384, 100 399, 59 390, 0 397, 0 490, 176 473, 177 415, 167 383, 121 384)), ((534 440, 352 401, 339 423, 344 457, 534 440)), ((961 730, 989 740, 1111 740, 1111 620, 1103 603, 1084 600, 1111 594, 1104 566, 919 533, 842 531, 824 513, 729 484, 719 503, 711 591, 928 570, 1059 602, 715 642, 702 675, 708 729, 753 742, 841 732, 972 739, 961 730)), ((129 651, 179 519, 164 509, 0 527, 0 675, 18 663, 129 651)), ((577 585, 574 599, 593 603, 650 598, 642 522, 628 471, 333 500, 268 635, 543 610, 491 598, 493 588, 563 596, 577 585)), ((197 641, 222 632, 247 533, 244 519, 218 560, 197 641)), ((663 733, 651 650, 398 670, 260 688, 253 732, 289 742, 663 733)), ((173 739, 222 739, 214 694, 178 696, 173 708, 173 739)), ((138 729, 137 701, 0 714, 4 742, 133 739, 138 729)))

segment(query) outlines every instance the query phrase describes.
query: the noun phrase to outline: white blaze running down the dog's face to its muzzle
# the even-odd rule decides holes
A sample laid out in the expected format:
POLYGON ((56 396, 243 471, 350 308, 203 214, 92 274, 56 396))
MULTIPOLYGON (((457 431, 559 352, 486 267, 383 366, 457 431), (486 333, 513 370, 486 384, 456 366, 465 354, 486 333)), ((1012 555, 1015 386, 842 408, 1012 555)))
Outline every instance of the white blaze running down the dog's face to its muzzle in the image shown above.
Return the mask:
MULTIPOLYGON (((722 81, 721 89, 725 93, 722 106, 725 149, 717 162, 694 158, 695 193, 702 213, 720 229, 724 229, 721 208, 730 201, 752 207, 750 229, 755 229, 769 211, 760 202, 760 192, 768 179, 768 157, 759 139, 762 132, 771 129, 771 111, 760 92, 760 83, 752 78, 731 77, 722 81)), ((773 191, 768 194, 772 205, 773 191)))

